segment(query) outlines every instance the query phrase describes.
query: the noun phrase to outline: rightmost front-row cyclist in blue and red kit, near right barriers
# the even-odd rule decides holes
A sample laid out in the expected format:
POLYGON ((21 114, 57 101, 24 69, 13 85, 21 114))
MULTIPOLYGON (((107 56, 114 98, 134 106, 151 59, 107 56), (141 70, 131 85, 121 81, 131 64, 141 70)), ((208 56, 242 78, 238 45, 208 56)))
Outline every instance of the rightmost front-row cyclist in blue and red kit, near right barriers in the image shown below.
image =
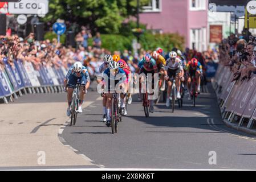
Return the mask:
MULTIPOLYGON (((186 64, 186 72, 188 74, 188 80, 186 82, 188 91, 190 93, 191 88, 191 78, 192 76, 196 76, 197 80, 197 93, 200 93, 200 84, 201 84, 201 75, 202 75, 202 65, 196 58, 192 58, 190 61, 188 61, 188 64, 186 64)), ((190 96, 188 97, 190 100, 190 96)))

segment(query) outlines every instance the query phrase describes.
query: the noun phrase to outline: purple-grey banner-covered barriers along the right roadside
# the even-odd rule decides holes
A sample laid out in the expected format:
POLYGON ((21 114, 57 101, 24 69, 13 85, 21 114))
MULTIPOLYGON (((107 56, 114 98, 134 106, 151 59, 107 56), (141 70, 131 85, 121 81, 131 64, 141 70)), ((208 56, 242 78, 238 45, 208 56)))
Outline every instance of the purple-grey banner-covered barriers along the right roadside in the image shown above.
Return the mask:
POLYGON ((233 81, 230 67, 218 66, 213 88, 218 97, 222 119, 227 123, 251 129, 256 121, 256 75, 249 80, 233 81))

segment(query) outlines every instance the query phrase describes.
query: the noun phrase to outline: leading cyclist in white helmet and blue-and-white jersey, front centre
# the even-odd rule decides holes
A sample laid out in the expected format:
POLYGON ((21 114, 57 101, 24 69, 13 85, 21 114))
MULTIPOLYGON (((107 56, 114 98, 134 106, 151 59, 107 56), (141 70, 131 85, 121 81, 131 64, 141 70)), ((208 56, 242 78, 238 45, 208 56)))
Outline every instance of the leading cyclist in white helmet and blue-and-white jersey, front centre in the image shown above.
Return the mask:
MULTIPOLYGON (((107 122, 106 122, 106 125, 109 127, 111 124, 110 109, 111 109, 111 103, 112 103, 112 98, 113 98, 113 93, 110 93, 110 92, 115 91, 115 87, 117 84, 119 84, 119 82, 121 82, 121 86, 122 87, 124 86, 124 89, 125 89, 126 76, 125 76, 125 72, 123 71, 123 69, 119 68, 119 64, 115 61, 111 61, 108 64, 108 68, 104 71, 103 77, 101 78, 101 81, 103 81, 103 83, 106 81, 104 79, 108 79, 108 81, 107 81, 108 85, 106 85, 108 92, 105 93, 105 95, 107 97, 107 102, 106 102, 107 122), (119 74, 121 74, 121 77, 119 74), (106 76, 107 76, 107 78, 106 78, 106 76), (115 80, 114 81, 115 85, 111 85, 111 82, 112 82, 111 79, 115 80)), ((124 98, 125 93, 122 92, 120 97, 124 98)))

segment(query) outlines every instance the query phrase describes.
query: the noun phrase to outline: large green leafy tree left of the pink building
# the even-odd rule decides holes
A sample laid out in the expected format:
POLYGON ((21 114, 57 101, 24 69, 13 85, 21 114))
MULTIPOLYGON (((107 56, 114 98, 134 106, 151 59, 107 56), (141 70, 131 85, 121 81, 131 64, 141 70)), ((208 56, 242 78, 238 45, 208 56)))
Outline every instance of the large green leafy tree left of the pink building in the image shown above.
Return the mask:
MULTIPOLYGON (((140 8, 149 0, 140 0, 140 8)), ((137 0, 50 0, 45 22, 65 19, 92 31, 119 33, 121 23, 136 15, 137 0)))

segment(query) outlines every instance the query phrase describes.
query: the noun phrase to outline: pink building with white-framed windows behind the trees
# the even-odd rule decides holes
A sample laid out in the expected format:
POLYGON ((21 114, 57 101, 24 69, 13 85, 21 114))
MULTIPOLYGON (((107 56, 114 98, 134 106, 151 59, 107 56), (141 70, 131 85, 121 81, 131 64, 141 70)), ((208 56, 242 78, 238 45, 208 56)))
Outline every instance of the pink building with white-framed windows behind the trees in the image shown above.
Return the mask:
POLYGON ((208 0, 151 0, 140 22, 156 32, 178 32, 185 46, 205 51, 208 43, 208 0))

